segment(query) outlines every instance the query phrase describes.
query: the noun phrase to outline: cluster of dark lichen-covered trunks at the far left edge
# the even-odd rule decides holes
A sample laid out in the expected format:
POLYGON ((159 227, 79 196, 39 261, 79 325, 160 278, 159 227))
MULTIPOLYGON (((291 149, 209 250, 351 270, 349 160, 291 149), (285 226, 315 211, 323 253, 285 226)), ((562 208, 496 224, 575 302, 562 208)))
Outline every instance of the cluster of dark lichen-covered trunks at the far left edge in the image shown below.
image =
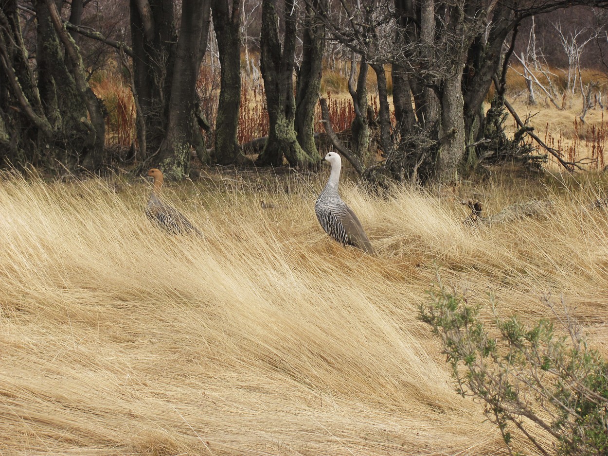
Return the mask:
POLYGON ((38 78, 27 58, 17 2, 0 3, 0 144, 4 159, 72 171, 103 161, 102 105, 86 82, 78 48, 53 2, 38 0, 38 78), (69 68, 68 68, 69 65, 69 68))

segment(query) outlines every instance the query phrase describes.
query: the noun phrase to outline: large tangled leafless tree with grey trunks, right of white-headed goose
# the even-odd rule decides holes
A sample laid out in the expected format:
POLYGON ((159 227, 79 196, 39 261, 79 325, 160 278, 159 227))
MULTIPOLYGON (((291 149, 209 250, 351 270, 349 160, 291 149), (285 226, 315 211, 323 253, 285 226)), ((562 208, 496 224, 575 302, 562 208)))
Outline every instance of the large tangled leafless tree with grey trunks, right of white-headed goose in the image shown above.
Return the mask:
POLYGON ((520 22, 573 4, 608 2, 342 0, 340 10, 320 10, 333 40, 361 55, 379 76, 384 119, 382 66, 392 64, 397 125, 381 119, 385 161, 378 170, 397 179, 418 174, 423 181, 449 182, 474 167, 488 143, 486 126, 496 126, 485 119, 483 99, 494 77, 505 83, 520 22))

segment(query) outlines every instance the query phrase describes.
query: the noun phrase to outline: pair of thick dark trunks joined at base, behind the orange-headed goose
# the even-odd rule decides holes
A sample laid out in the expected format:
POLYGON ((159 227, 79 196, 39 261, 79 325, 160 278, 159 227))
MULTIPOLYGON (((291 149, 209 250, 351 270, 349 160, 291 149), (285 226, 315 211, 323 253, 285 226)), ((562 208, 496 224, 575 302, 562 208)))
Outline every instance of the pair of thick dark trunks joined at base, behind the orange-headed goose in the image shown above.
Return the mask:
POLYGON ((209 16, 210 0, 182 2, 178 38, 171 0, 131 0, 134 86, 148 147, 142 166, 161 168, 169 179, 188 174, 192 149, 202 161, 208 159, 198 126, 196 81, 209 16))

